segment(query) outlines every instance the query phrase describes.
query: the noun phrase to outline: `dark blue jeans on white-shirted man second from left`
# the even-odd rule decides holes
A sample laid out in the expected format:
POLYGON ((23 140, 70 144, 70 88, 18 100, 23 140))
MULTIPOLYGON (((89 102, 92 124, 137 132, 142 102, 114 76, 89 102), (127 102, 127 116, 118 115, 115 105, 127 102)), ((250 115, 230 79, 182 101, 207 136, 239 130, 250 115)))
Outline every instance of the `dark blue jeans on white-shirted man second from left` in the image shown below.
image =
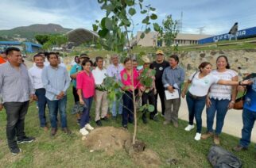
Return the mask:
POLYGON ((40 120, 40 126, 45 127, 46 126, 46 118, 45 118, 45 106, 47 103, 46 97, 45 97, 45 89, 38 89, 36 90, 36 93, 38 101, 38 116, 40 120))

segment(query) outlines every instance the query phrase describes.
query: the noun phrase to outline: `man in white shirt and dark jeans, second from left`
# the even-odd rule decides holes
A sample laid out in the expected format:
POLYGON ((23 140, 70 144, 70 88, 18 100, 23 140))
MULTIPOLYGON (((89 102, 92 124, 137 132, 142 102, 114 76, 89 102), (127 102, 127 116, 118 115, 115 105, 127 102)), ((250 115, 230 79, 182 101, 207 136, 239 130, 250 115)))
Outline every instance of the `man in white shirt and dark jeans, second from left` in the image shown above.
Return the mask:
POLYGON ((43 55, 37 54, 33 56, 35 65, 29 69, 29 78, 32 82, 33 89, 36 90, 35 94, 38 99, 38 116, 40 120, 41 128, 44 128, 45 131, 48 131, 46 126, 45 118, 45 106, 46 106, 46 97, 45 97, 45 88, 42 82, 42 71, 45 67, 45 60, 43 55))

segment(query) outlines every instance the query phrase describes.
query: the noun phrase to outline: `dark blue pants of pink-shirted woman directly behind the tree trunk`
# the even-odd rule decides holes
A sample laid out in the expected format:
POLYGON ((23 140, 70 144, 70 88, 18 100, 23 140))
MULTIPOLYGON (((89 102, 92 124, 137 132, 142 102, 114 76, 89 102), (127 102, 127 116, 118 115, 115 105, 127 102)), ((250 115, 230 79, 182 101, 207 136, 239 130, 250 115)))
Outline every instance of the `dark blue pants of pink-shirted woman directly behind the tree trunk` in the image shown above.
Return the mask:
POLYGON ((134 103, 133 94, 130 91, 126 91, 122 95, 123 108, 122 108, 122 126, 134 122, 134 103))

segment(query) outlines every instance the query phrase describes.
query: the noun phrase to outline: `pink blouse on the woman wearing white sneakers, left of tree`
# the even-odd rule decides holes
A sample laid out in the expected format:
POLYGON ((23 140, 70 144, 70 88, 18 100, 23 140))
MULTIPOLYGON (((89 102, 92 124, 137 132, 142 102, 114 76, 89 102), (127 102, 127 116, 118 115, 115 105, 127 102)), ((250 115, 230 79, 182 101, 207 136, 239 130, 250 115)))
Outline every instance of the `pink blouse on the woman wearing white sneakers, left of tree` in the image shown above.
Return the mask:
POLYGON ((82 90, 84 98, 95 95, 95 78, 91 72, 89 75, 85 71, 81 71, 79 74, 77 74, 76 89, 82 90))

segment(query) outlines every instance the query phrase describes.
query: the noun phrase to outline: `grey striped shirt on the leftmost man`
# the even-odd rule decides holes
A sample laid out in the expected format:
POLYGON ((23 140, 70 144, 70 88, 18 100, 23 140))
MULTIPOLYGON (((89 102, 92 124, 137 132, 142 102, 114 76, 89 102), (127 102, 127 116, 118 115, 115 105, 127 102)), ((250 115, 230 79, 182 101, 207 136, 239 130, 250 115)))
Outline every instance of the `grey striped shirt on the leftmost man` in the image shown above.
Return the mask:
POLYGON ((24 64, 21 63, 19 70, 9 62, 0 65, 0 94, 3 102, 29 101, 29 96, 34 91, 24 64))

